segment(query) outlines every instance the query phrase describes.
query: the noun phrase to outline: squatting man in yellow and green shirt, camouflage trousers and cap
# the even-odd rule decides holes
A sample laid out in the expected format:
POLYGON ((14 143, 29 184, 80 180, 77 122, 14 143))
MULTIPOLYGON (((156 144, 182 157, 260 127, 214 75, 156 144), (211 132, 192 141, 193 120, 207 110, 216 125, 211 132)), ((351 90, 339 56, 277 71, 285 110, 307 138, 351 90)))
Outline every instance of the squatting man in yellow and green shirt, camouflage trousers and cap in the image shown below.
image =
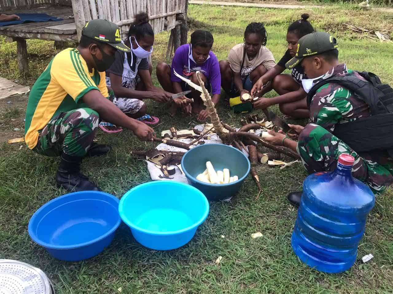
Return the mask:
POLYGON ((26 109, 25 141, 45 156, 61 156, 56 184, 70 191, 99 191, 80 173, 84 156, 110 151, 93 143, 99 119, 125 127, 141 140, 152 140, 153 129, 125 115, 110 102, 105 70, 116 50, 130 52, 121 43, 120 29, 107 20, 91 20, 79 46, 57 54, 31 88, 26 109))

